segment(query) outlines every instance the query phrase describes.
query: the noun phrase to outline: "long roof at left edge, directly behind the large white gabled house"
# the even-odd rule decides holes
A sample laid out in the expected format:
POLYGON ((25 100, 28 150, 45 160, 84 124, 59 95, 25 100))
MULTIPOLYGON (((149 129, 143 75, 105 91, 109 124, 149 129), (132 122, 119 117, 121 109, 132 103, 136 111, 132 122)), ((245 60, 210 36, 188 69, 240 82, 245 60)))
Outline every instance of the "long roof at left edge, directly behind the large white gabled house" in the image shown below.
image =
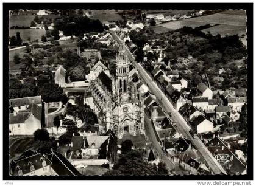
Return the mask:
POLYGON ((10 99, 9 104, 10 106, 24 106, 24 105, 31 105, 32 103, 35 104, 41 104, 42 103, 42 98, 41 95, 34 96, 34 97, 23 97, 23 98, 16 98, 16 99, 10 99))

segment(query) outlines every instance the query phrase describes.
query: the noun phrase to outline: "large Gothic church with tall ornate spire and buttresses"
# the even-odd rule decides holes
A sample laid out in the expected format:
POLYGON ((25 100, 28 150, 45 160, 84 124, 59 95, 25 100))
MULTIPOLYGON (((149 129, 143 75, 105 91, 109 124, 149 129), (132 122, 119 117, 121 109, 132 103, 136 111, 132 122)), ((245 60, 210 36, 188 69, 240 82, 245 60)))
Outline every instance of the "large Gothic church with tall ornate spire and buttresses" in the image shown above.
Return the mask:
MULTIPOLYGON (((102 64, 101 64, 102 66, 102 64)), ((129 76, 131 63, 124 46, 116 56, 116 74, 101 71, 85 94, 85 103, 99 116, 99 125, 105 131, 111 129, 118 138, 124 134, 144 134, 143 92, 129 76)))

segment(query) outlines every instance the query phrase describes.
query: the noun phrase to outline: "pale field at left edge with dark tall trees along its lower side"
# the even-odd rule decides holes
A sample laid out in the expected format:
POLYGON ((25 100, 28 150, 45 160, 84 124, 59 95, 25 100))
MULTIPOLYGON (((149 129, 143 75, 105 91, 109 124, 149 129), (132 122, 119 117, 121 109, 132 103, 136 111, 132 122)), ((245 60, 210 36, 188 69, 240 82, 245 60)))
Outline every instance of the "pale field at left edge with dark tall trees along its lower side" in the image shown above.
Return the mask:
POLYGON ((20 32, 23 41, 27 41, 28 38, 32 41, 41 40, 41 36, 46 33, 44 29, 11 29, 9 30, 9 36, 16 36, 16 32, 20 32))

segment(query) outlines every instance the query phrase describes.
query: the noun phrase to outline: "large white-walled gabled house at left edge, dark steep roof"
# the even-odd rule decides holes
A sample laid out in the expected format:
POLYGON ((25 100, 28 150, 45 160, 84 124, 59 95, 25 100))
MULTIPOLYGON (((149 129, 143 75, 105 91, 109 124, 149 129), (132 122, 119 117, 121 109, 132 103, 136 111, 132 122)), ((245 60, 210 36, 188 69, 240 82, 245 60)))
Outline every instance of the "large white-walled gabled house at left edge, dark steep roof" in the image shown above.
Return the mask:
POLYGON ((42 108, 32 103, 29 110, 9 114, 9 135, 33 135, 41 129, 42 108))

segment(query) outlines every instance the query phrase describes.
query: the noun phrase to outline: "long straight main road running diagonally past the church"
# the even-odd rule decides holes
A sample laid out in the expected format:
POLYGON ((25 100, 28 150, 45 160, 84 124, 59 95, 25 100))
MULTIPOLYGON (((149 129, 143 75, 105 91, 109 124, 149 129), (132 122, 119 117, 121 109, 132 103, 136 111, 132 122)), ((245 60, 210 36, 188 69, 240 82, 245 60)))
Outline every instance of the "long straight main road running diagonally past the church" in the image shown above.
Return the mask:
POLYGON ((133 66, 138 70, 141 78, 148 84, 149 89, 155 96, 158 98, 158 102, 162 106, 162 108, 167 112, 172 113, 172 120, 176 123, 177 131, 183 136, 187 136, 191 142, 193 142, 194 146, 196 146, 197 150, 201 153, 202 157, 204 157, 205 162, 212 170, 213 174, 227 174, 224 168, 219 165, 215 157, 213 157, 212 153, 208 150, 208 148, 204 145, 204 143, 199 139, 199 137, 192 137, 190 134, 190 126, 188 126, 187 122, 183 119, 182 115, 172 106, 169 99, 165 94, 158 88, 157 84, 152 80, 152 78, 148 75, 145 69, 135 61, 135 57, 133 57, 130 50, 126 47, 126 45, 119 39, 115 32, 110 32, 113 38, 119 43, 123 44, 124 49, 126 49, 126 54, 129 60, 132 62, 133 66))

